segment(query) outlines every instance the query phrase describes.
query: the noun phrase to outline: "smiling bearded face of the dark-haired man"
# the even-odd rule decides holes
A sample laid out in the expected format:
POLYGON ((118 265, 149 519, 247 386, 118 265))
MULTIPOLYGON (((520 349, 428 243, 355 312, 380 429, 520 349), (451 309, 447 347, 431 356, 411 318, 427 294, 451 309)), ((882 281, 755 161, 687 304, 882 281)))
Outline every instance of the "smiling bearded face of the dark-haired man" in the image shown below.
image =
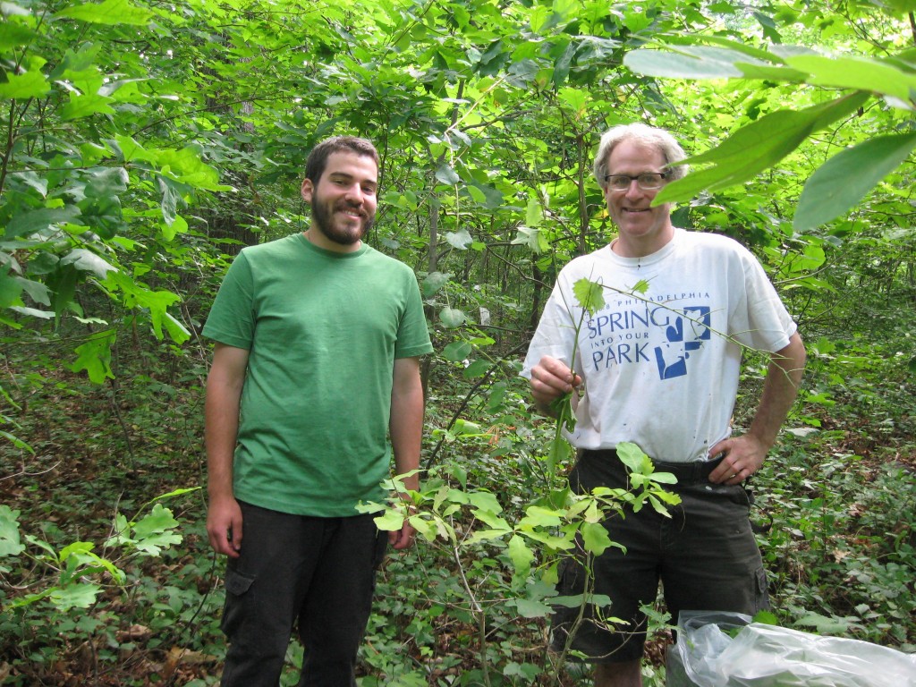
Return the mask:
POLYGON ((338 253, 357 250, 376 219, 377 185, 372 158, 350 151, 328 156, 318 183, 302 182, 302 198, 311 204, 311 242, 338 253))

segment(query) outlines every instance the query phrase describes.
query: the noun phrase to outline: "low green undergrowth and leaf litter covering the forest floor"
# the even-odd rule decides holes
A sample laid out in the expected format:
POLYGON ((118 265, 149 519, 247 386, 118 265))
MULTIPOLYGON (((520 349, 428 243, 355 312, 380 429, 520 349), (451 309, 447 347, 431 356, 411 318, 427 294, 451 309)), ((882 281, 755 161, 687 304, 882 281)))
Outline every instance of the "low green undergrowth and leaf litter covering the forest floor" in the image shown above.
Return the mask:
MULTIPOLYGON (((855 347, 814 347, 802 403, 754 479, 754 518, 770 523, 760 543, 780 622, 912 651, 911 382, 893 356, 855 347)), ((223 562, 206 543, 203 491, 155 502, 177 520, 181 538, 155 555, 125 553, 112 540, 116 514, 139 520, 158 496, 203 484, 202 368, 136 354, 122 361, 120 387, 94 387, 49 362, 5 363, 8 401, 17 408, 4 414, 15 410, 12 433, 34 453, 9 442, 0 450, 0 503, 18 511, 16 536, 25 547, 10 553, 7 518, 0 524, 0 680, 215 684, 224 651, 223 562), (123 582, 92 569, 76 581, 98 584, 94 599, 70 597, 77 603, 63 607, 49 596, 17 606, 61 586, 67 566, 55 566, 49 551, 60 560, 77 541, 113 562, 123 582)), ((522 513, 562 481, 545 456, 551 423, 530 415, 511 369, 492 380, 497 395, 494 387, 471 389, 440 363, 431 379, 427 467, 455 490, 496 495, 507 517, 522 513)), ((525 585, 532 603, 519 605, 506 547, 472 541, 482 523, 466 512, 456 511, 450 526, 464 534, 458 545, 421 542, 389 556, 380 572, 362 687, 589 683, 575 664, 553 664, 546 612, 539 615, 525 585)), ((671 641, 662 611, 649 642, 649 687, 663 684, 671 641)), ((294 644, 284 684, 295 683, 300 660, 294 644)))

